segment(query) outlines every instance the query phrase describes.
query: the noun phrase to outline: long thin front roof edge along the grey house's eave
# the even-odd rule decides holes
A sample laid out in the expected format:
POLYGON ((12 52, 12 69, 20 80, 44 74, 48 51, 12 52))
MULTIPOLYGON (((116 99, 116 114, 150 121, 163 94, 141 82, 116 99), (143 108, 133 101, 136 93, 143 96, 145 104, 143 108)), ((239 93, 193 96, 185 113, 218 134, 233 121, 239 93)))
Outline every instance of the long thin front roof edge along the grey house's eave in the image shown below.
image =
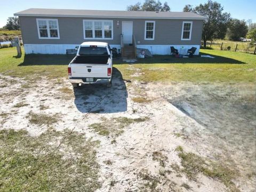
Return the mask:
POLYGON ((205 20, 205 17, 194 18, 194 17, 127 17, 127 16, 92 16, 92 15, 61 15, 61 14, 24 14, 14 13, 14 16, 21 17, 69 17, 69 18, 117 18, 117 19, 187 19, 187 20, 205 20))

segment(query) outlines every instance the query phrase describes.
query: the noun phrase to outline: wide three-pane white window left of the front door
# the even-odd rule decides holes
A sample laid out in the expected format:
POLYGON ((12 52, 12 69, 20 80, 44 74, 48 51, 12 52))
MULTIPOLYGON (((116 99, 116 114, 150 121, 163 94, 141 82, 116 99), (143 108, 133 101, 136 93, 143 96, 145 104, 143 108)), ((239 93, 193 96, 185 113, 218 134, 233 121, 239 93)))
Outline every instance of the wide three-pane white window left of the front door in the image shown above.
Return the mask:
POLYGON ((83 20, 84 39, 113 39, 112 20, 83 20))

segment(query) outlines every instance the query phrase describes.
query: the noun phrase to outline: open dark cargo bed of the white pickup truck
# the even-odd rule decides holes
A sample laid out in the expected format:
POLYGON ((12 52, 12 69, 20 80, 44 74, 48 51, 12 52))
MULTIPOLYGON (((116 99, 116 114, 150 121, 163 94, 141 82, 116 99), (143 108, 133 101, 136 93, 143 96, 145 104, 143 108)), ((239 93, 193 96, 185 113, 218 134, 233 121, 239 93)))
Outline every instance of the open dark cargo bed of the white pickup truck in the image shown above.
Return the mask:
POLYGON ((74 64, 107 64, 108 55, 77 55, 71 63, 74 64))

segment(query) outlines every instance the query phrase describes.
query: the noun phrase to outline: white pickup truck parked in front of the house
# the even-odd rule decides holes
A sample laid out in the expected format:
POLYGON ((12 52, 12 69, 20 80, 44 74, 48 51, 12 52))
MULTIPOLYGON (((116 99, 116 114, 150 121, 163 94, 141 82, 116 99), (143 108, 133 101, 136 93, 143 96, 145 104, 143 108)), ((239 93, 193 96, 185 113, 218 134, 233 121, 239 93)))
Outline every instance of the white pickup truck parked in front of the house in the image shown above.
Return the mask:
POLYGON ((112 52, 108 43, 84 42, 68 65, 68 78, 73 87, 81 84, 112 84, 112 52))

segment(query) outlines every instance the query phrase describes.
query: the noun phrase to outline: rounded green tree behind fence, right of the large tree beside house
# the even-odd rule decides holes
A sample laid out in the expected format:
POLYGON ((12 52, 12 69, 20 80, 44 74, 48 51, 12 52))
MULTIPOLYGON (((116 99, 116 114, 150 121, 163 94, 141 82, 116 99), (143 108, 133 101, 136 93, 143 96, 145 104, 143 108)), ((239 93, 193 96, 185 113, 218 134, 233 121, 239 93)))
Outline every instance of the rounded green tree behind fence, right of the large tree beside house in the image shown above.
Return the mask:
POLYGON ((245 37, 248 27, 244 20, 231 19, 228 25, 227 37, 232 41, 239 41, 240 37, 245 37))

